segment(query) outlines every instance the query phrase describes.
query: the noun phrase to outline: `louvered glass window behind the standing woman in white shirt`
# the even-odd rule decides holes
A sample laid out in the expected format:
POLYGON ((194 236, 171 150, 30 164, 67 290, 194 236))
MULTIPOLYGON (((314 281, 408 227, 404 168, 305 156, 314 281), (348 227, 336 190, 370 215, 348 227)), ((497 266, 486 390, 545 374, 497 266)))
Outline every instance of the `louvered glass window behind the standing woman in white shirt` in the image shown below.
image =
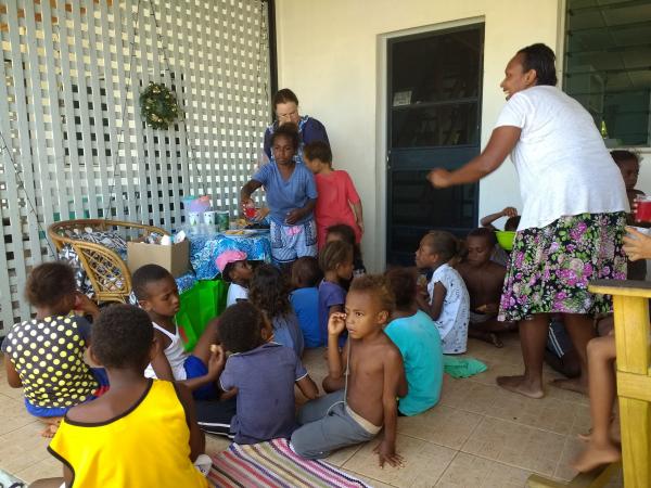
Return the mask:
POLYGON ((651 2, 567 0, 565 91, 607 145, 651 145, 651 2))

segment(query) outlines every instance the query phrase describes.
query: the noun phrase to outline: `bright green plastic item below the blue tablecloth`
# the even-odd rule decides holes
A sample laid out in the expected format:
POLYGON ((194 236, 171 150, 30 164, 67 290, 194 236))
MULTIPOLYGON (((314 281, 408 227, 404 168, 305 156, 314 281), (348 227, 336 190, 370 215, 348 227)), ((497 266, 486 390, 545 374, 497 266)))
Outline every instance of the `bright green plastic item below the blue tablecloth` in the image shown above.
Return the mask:
POLYGON ((194 349, 206 323, 226 308, 228 283, 221 280, 197 281, 181 293, 181 307, 176 314, 179 334, 187 351, 194 349))

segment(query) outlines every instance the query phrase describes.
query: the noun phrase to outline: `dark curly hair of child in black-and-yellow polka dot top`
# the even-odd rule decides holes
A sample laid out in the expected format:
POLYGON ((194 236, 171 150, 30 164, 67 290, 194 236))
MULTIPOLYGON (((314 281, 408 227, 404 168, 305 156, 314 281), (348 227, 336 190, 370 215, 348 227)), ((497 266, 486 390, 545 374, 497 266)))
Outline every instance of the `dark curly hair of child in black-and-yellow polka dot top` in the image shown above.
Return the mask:
POLYGON ((35 307, 52 307, 77 291, 75 270, 61 261, 43 262, 31 270, 25 298, 35 307))

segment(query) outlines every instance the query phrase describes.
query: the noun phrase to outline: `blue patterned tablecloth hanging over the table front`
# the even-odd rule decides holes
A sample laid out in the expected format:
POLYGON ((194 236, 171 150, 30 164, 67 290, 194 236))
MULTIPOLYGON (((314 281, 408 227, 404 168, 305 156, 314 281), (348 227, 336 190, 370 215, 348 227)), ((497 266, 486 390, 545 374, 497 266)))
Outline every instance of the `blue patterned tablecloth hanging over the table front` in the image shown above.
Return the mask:
POLYGON ((197 280, 213 280, 217 277, 219 270, 215 259, 225 251, 242 251, 252 261, 271 261, 269 231, 256 231, 247 235, 226 235, 215 232, 188 235, 188 239, 190 240, 190 264, 197 280))

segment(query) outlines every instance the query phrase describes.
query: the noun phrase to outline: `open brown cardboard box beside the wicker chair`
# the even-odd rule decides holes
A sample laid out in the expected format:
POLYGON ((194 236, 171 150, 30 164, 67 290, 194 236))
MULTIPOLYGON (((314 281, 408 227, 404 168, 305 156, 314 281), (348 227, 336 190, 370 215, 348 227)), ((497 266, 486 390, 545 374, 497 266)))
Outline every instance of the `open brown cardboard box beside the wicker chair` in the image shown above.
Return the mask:
POLYGON ((127 243, 127 266, 133 273, 144 265, 158 265, 178 278, 190 268, 190 242, 188 240, 163 246, 145 242, 127 243))

